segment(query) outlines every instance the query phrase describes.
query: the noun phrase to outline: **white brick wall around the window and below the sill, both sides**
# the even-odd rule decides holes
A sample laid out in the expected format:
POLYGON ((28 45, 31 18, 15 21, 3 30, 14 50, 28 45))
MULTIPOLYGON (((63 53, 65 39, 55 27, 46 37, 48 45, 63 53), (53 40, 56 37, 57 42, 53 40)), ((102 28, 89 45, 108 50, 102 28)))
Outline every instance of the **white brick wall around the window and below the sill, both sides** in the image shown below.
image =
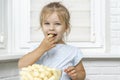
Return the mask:
MULTIPOLYGON (((120 0, 110 0, 110 13, 107 12, 107 17, 112 49, 120 46, 120 0)), ((120 80, 120 59, 84 58, 83 64, 87 73, 86 80, 120 80)), ((0 80, 19 80, 17 60, 0 61, 0 80)))

